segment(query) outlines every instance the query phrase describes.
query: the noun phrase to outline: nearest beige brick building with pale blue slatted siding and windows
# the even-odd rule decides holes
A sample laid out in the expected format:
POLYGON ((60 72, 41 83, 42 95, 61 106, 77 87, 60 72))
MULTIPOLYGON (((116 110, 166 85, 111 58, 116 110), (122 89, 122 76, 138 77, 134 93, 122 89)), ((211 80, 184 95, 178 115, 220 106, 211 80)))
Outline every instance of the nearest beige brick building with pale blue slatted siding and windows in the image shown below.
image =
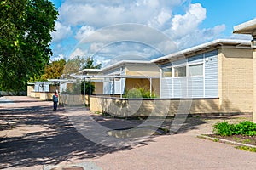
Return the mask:
MULTIPOLYGON (((216 112, 253 111, 253 54, 250 42, 215 40, 170 54, 160 65, 160 98, 218 99, 216 112)), ((207 112, 203 108, 195 112, 207 112)))

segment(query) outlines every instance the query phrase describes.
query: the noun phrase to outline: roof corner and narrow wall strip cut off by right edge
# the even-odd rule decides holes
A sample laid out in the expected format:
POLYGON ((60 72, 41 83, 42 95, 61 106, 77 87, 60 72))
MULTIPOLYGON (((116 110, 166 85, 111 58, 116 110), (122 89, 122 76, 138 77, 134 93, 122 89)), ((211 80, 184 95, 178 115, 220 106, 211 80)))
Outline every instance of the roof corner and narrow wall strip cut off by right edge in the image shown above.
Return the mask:
POLYGON ((256 19, 234 26, 235 34, 249 34, 253 36, 253 122, 256 122, 256 19))

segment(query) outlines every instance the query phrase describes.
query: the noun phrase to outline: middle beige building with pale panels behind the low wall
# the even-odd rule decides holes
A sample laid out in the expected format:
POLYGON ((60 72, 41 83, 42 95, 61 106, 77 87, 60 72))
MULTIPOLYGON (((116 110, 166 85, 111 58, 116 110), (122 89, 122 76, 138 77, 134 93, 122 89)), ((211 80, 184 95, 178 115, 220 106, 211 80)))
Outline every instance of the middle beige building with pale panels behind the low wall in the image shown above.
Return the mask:
POLYGON ((159 67, 150 61, 122 60, 102 68, 100 75, 105 78, 96 82, 97 94, 125 94, 125 91, 138 87, 159 94, 159 67))

